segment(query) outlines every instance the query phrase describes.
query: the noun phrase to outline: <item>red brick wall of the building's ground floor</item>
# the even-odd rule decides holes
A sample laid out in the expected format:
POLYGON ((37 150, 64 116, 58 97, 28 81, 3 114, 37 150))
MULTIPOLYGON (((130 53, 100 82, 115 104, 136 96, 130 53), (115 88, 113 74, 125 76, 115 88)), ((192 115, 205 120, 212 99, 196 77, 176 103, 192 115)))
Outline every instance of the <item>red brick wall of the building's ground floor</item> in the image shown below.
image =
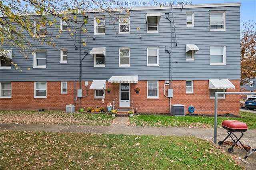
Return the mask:
MULTIPOLYGON (((227 89, 226 92, 239 92, 239 80, 231 80, 236 89, 227 89)), ((83 96, 80 99, 81 108, 96 107, 100 105, 107 110, 107 103, 115 99, 115 109, 119 108, 119 83, 106 83, 106 87, 112 89, 106 93, 104 103, 102 99, 94 99, 94 90, 86 88, 82 82, 83 96)), ((169 86, 165 86, 165 95, 169 86)), ((76 89, 79 89, 79 82, 76 82, 76 89)), ((130 84, 130 99, 134 109, 140 113, 169 113, 170 104, 182 104, 185 106, 185 113, 189 114, 188 107, 194 106, 194 114, 214 114, 214 99, 210 99, 208 80, 194 80, 194 93, 186 94, 186 81, 172 81, 173 97, 171 101, 164 96, 164 81, 159 81, 159 98, 147 99, 147 81, 138 81, 130 84), (134 89, 140 88, 136 94, 134 89)), ((66 105, 74 104, 74 81, 68 81, 68 94, 61 94, 60 81, 47 82, 47 98, 34 98, 34 82, 12 82, 12 98, 1 99, 2 110, 61 110, 66 111, 66 105)), ((218 114, 232 113, 239 115, 240 95, 226 95, 226 99, 218 99, 218 114)), ((76 100, 75 111, 79 111, 79 98, 76 100)))

